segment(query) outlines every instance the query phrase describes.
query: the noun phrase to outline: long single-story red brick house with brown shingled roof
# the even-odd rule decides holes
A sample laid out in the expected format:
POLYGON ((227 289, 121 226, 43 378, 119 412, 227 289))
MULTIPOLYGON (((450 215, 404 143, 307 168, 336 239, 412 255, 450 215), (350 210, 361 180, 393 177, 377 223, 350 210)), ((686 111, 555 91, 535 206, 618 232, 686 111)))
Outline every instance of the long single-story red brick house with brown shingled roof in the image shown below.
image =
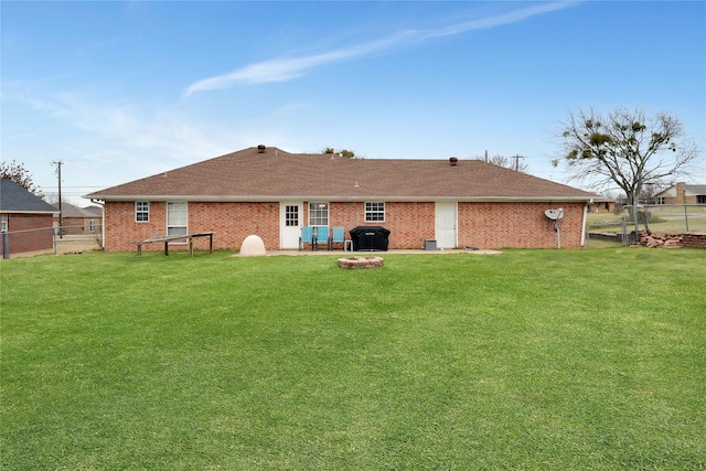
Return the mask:
MULTIPOLYGON (((104 204, 104 247, 215 232, 214 248, 250 234, 296 249, 302 226, 382 225, 389 248, 557 247, 546 210, 561 207, 561 246, 584 244, 601 196, 480 160, 345 159, 258 146, 90 193, 104 204)), ((146 246, 146 248, 148 248, 146 246)), ((159 246, 152 247, 159 249, 159 246)))

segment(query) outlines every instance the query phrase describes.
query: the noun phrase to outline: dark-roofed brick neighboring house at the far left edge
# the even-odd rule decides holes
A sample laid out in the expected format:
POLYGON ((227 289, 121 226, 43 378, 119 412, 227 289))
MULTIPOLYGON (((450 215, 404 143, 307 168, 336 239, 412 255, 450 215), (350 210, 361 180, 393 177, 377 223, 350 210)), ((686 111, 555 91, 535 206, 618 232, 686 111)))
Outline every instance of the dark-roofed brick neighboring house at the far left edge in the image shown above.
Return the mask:
POLYGON ((56 210, 11 180, 0 180, 0 231, 2 254, 45 250, 54 247, 52 221, 56 210))

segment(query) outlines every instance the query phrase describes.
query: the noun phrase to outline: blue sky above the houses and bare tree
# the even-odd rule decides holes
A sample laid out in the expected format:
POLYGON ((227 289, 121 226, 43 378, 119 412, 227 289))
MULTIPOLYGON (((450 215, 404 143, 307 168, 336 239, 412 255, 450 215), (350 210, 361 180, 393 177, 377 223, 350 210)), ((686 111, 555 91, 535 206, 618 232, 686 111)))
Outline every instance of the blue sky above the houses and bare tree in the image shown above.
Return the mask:
MULTIPOLYGON (((1 151, 81 194, 265 143, 525 157, 568 110, 642 107, 706 148, 702 1, 2 1, 1 151)), ((706 164, 689 179, 706 181, 706 164)))

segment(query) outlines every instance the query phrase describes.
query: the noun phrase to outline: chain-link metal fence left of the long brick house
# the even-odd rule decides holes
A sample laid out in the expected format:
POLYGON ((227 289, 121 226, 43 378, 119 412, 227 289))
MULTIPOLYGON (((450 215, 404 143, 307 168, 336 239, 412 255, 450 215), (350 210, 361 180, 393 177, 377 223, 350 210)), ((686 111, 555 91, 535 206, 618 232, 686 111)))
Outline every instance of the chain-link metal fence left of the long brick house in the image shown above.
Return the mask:
POLYGON ((15 258, 42 254, 68 254, 103 248, 103 227, 94 224, 58 227, 40 227, 8 231, 2 238, 2 258, 15 258))

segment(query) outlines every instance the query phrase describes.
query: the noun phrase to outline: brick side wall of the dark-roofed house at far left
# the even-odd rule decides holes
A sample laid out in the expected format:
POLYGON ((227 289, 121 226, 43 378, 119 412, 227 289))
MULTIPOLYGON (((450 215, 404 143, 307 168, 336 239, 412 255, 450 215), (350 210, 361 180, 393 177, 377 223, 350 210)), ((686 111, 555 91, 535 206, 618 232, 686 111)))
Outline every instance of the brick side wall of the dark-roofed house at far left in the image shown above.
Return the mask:
POLYGON ((14 233, 7 235, 10 254, 54 247, 52 224, 52 214, 8 214, 8 233, 14 233))

